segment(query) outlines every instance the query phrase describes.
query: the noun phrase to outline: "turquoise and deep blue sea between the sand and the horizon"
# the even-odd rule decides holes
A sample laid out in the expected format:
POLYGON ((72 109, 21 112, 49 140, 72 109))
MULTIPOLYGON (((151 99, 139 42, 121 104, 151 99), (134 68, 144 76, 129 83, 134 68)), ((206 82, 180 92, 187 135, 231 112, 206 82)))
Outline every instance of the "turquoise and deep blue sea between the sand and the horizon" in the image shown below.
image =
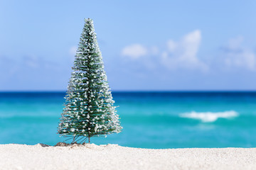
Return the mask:
MULTIPOLYGON (((0 92, 0 144, 55 145, 65 92, 0 92)), ((256 147, 256 92, 112 92, 122 132, 92 137, 125 147, 256 147)), ((67 141, 71 142, 71 141, 67 141)))

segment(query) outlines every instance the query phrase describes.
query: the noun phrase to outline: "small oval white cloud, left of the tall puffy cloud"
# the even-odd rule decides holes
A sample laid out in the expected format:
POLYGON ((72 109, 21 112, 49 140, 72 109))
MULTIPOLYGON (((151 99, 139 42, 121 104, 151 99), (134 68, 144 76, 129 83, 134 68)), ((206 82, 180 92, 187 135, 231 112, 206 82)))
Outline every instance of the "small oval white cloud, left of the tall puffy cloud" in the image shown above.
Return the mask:
POLYGON ((148 54, 146 47, 140 44, 128 45, 122 50, 122 56, 138 59, 148 54))

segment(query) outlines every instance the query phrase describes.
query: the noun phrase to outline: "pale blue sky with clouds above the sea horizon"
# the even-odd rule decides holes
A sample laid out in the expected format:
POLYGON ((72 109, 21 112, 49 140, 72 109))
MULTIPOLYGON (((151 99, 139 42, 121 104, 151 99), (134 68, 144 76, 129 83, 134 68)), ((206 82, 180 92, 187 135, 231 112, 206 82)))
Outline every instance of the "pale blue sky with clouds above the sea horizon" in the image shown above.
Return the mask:
POLYGON ((0 91, 65 91, 84 18, 112 90, 256 90, 256 1, 0 1, 0 91))

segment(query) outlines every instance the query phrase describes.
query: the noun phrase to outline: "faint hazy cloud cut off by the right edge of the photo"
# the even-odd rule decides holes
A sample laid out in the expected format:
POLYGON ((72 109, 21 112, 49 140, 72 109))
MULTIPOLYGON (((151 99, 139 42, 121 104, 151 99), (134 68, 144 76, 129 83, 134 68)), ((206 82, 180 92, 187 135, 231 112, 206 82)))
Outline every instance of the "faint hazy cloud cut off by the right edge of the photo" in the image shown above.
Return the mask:
POLYGON ((256 69, 255 53, 242 46, 244 38, 233 38, 224 48, 224 62, 228 67, 243 67, 249 70, 256 69))

